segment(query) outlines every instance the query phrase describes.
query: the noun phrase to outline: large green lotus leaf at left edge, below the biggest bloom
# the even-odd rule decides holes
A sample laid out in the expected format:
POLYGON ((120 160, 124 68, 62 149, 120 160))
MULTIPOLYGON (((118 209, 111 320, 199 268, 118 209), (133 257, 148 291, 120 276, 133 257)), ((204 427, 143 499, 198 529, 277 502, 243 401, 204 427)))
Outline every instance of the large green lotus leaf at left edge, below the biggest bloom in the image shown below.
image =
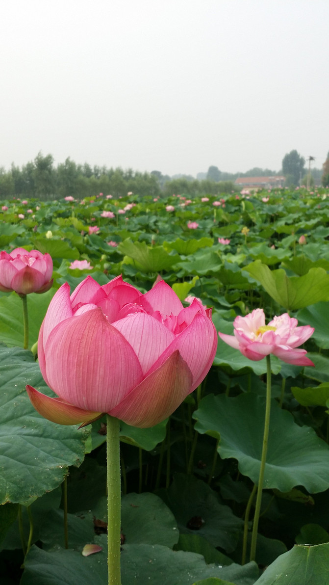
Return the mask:
POLYGON ((88 430, 55 425, 34 410, 25 386, 44 385, 31 352, 0 348, 0 503, 24 503, 59 486, 84 459, 88 430))

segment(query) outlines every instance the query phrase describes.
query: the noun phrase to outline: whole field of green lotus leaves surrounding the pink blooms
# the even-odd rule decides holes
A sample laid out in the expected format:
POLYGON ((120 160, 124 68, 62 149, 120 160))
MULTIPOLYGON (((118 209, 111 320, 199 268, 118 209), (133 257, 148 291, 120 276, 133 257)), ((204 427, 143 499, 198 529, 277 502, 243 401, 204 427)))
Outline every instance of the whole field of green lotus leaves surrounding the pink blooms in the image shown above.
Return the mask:
POLYGON ((171 417, 150 429, 120 424, 122 585, 327 583, 328 195, 321 188, 278 188, 218 193, 208 201, 188 193, 30 199, 25 219, 18 215, 26 205, 3 199, 1 249, 50 253, 54 283, 44 294, 28 295, 28 350, 22 349, 22 301, 15 292, 0 293, 2 585, 107 583, 105 418, 84 429, 54 425, 34 411, 25 391, 31 384, 52 395, 37 362, 41 322, 61 284, 74 290, 88 274, 99 284, 122 274, 141 292, 160 276, 184 305, 192 295, 212 307, 217 331, 228 334, 237 315, 255 308, 268 320, 289 312, 315 329, 303 346, 314 367, 271 359, 256 562, 248 562, 254 504, 245 564, 242 554, 261 459, 265 360, 252 362, 219 339, 206 379, 171 417), (191 229, 189 222, 198 225, 191 229), (301 235, 306 243, 299 243, 301 235), (71 268, 74 260, 90 268, 71 268), (86 544, 101 550, 83 556, 86 544))

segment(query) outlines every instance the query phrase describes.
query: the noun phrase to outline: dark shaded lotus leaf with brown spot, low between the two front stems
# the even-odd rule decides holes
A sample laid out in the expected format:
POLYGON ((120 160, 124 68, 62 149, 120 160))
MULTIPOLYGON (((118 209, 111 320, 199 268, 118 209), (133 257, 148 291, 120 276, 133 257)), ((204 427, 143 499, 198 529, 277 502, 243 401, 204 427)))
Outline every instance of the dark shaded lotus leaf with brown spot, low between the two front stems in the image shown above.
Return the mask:
POLYGON ((243 522, 204 481, 177 473, 168 490, 158 494, 174 514, 181 534, 203 536, 228 553, 236 548, 243 522))

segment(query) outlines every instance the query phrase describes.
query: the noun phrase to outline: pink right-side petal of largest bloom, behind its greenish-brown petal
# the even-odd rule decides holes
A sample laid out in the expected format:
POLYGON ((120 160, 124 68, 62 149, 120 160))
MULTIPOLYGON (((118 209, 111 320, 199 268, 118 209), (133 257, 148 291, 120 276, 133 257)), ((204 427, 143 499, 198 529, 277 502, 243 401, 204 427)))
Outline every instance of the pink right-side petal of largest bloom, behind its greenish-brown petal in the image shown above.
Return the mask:
POLYGON ((148 374, 159 367, 176 349, 188 364, 193 374, 192 390, 199 386, 213 363, 217 349, 217 331, 214 324, 207 317, 195 315, 191 325, 176 336, 174 341, 165 349, 157 362, 151 367, 148 374))

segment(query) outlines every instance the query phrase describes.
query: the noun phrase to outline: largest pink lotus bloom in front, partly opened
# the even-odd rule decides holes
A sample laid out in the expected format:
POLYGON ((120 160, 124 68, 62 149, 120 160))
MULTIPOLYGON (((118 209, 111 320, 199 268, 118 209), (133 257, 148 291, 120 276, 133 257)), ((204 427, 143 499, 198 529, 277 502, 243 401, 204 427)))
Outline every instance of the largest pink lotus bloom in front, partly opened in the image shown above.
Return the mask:
POLYGON ((167 418, 206 376, 217 347, 210 309, 183 305, 164 280, 141 294, 122 277, 63 284, 41 325, 38 355, 58 398, 27 386, 34 408, 59 424, 104 412, 129 425, 167 418))

